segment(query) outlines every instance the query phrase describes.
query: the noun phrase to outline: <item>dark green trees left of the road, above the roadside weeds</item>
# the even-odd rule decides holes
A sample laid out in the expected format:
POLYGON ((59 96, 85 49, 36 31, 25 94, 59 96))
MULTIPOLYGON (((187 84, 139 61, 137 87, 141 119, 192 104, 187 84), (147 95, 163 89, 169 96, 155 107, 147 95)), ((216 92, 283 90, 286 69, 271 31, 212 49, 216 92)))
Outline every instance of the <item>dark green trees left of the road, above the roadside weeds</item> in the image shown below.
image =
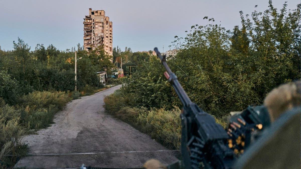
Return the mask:
MULTIPOLYGON (((17 98, 33 91, 73 91, 75 86, 74 51, 59 51, 53 45, 47 48, 37 44, 34 51, 20 38, 13 42, 13 51, 0 48, 0 97, 11 105, 17 98)), ((77 88, 98 87, 96 72, 107 70, 113 64, 103 50, 89 53, 78 44, 77 88)))

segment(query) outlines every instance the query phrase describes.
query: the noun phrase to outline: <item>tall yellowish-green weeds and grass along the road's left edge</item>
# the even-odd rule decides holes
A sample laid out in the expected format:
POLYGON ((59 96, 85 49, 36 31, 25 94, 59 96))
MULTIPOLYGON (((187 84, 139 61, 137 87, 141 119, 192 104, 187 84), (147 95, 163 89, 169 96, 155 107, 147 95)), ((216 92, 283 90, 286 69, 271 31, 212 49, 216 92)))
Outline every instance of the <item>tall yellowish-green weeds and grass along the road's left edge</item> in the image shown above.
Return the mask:
POLYGON ((0 97, 0 168, 11 167, 26 154, 27 146, 20 142, 21 136, 48 127, 54 114, 71 99, 65 92, 34 91, 11 106, 0 97))

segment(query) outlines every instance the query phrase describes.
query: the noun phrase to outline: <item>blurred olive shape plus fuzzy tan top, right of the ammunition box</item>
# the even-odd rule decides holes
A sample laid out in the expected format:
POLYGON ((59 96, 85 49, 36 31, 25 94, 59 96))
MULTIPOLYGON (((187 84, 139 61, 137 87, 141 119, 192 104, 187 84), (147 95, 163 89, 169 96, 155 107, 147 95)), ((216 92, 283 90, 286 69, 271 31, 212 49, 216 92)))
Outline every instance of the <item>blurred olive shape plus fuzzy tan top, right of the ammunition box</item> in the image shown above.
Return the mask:
POLYGON ((300 168, 301 81, 282 84, 264 100, 272 124, 234 168, 300 168))

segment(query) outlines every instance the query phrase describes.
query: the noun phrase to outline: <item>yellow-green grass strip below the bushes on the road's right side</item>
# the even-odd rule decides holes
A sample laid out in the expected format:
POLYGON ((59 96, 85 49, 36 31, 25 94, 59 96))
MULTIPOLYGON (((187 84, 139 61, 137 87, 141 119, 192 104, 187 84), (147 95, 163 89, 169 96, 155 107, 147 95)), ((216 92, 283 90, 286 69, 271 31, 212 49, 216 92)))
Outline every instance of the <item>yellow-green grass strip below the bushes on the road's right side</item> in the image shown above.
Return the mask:
MULTIPOLYGON (((106 112, 116 118, 131 124, 137 130, 148 134, 169 149, 181 147, 181 110, 174 107, 172 110, 135 108, 131 105, 134 94, 125 94, 121 89, 104 98, 106 112)), ((224 128, 223 118, 215 118, 224 128)))

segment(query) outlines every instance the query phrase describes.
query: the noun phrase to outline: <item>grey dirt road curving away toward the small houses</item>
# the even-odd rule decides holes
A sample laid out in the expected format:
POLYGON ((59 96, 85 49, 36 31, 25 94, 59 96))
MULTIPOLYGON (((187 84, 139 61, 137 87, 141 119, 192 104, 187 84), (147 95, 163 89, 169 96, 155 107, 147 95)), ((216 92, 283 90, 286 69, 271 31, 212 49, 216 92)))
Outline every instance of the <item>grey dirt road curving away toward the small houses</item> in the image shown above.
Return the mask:
POLYGON ((26 168, 141 167, 151 158, 176 161, 175 151, 104 113, 103 97, 121 86, 73 100, 58 112, 51 127, 28 135, 29 154, 15 165, 26 168), (161 151, 163 150, 163 151, 161 151))

